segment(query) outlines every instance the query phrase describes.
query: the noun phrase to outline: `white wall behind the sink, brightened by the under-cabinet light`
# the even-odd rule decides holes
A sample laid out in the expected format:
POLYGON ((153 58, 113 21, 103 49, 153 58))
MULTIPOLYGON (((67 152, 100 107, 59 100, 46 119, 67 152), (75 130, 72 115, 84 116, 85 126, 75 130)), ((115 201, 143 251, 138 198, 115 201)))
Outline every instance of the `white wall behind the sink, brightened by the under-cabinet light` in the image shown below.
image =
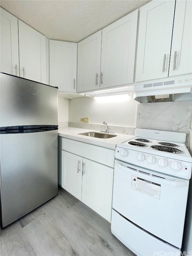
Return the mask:
POLYGON ((80 122, 81 117, 89 117, 89 123, 135 127, 137 102, 97 102, 93 97, 69 100, 69 122, 80 122))

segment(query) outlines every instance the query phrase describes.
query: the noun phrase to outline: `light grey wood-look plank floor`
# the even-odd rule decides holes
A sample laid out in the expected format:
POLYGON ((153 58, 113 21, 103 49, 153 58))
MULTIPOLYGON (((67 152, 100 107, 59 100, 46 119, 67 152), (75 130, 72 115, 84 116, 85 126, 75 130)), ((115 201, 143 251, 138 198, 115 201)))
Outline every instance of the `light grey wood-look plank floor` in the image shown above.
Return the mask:
POLYGON ((66 192, 1 229, 1 256, 133 256, 110 223, 66 192))

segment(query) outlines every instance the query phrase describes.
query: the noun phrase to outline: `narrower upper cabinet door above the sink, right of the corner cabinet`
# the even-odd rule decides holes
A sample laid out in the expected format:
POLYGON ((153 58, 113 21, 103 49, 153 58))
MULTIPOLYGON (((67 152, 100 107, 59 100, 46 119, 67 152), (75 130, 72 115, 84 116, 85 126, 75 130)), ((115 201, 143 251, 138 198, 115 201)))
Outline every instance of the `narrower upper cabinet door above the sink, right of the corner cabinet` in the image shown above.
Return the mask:
POLYGON ((101 30, 78 43, 77 91, 100 87, 101 30))

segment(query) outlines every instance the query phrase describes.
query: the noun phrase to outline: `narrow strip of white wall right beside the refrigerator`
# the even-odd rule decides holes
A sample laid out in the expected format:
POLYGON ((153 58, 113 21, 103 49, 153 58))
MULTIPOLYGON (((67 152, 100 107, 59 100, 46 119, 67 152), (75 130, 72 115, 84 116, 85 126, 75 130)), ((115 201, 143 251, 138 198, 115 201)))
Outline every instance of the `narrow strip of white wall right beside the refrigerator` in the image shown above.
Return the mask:
POLYGON ((69 113, 69 100, 58 98, 58 123, 61 126, 61 123, 68 122, 68 113, 69 113))

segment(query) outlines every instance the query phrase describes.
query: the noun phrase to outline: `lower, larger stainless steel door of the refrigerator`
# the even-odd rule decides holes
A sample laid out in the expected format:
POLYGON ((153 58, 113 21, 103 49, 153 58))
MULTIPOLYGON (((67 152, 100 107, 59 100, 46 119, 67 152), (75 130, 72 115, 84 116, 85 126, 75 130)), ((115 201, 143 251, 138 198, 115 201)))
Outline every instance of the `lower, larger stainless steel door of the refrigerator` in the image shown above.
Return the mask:
POLYGON ((57 195, 57 130, 0 135, 5 227, 57 195))

